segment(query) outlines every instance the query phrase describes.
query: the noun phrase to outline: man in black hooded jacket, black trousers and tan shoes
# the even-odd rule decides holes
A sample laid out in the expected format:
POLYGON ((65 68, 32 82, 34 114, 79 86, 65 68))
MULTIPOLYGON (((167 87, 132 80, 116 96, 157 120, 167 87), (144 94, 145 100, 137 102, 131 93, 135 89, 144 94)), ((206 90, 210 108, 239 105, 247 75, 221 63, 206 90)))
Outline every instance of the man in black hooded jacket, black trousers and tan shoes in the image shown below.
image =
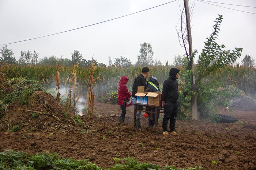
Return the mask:
POLYGON ((163 82, 163 91, 162 91, 162 106, 164 107, 164 116, 163 116, 163 134, 168 134, 167 124, 170 120, 170 134, 178 135, 175 132, 175 123, 178 114, 177 100, 179 97, 178 93, 178 82, 176 79, 179 77, 178 68, 171 68, 169 72, 169 78, 163 82))

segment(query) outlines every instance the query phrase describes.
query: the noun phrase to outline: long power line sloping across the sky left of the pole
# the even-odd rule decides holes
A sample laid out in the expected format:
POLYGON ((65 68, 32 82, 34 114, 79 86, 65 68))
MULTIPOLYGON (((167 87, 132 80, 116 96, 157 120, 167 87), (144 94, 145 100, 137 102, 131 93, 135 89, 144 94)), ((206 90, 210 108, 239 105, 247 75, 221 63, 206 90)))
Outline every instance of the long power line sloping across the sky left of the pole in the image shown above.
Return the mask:
POLYGON ((138 12, 133 12, 133 13, 130 13, 130 14, 128 14, 128 15, 123 15, 123 16, 116 17, 116 18, 113 18, 113 19, 109 19, 109 20, 101 21, 101 22, 99 22, 99 23, 95 23, 95 24, 91 24, 91 25, 86 25, 86 26, 84 26, 84 27, 79 27, 79 28, 69 29, 69 30, 67 30, 67 31, 57 32, 57 33, 53 33, 53 34, 49 34, 49 35, 39 36, 39 37, 35 37, 35 38, 31 38, 31 39, 26 39, 26 40, 21 40, 21 41, 16 41, 16 42, 12 42, 12 43, 1 44, 0 46, 8 45, 8 44, 14 44, 14 43, 19 43, 19 42, 23 42, 23 41, 34 40, 34 39, 38 39, 38 38, 42 38, 42 37, 47 37, 47 36, 52 36, 52 35, 56 35, 56 34, 60 34, 60 33, 64 33, 64 32, 68 32, 68 31, 74 31, 74 30, 76 30, 76 29, 81 29, 81 28, 85 28, 85 27, 90 27, 90 26, 93 26, 93 25, 97 25, 97 24, 101 24, 101 23, 108 22, 108 21, 116 20, 116 19, 119 19, 119 18, 122 18, 122 17, 125 17, 125 16, 133 15, 133 14, 135 14, 135 13, 139 13, 139 12, 147 11, 148 9, 153 9, 153 8, 156 8, 156 7, 160 7, 160 6, 162 6, 162 5, 166 5, 166 4, 172 3, 172 2, 174 2, 174 1, 177 1, 177 0, 173 0, 173 1, 170 1, 170 2, 167 2, 167 3, 164 3, 164 4, 161 4, 161 5, 157 5, 157 6, 155 6, 155 7, 151 7, 151 8, 143 9, 143 10, 138 11, 138 12))

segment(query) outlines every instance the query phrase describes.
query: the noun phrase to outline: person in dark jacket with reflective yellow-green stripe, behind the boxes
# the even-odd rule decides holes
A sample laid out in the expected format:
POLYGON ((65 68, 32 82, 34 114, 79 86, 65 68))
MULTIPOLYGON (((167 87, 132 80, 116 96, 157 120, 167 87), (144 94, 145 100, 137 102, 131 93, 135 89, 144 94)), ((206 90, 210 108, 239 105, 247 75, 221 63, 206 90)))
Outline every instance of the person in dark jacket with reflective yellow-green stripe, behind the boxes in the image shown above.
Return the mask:
MULTIPOLYGON (((147 82, 147 88, 149 89, 148 92, 160 91, 157 78, 151 77, 147 82)), ((147 109, 147 111, 155 112, 155 108, 152 108, 151 110, 147 109)), ((155 113, 151 114, 151 117, 148 118, 148 127, 152 127, 154 126, 154 124, 155 124, 155 113)))

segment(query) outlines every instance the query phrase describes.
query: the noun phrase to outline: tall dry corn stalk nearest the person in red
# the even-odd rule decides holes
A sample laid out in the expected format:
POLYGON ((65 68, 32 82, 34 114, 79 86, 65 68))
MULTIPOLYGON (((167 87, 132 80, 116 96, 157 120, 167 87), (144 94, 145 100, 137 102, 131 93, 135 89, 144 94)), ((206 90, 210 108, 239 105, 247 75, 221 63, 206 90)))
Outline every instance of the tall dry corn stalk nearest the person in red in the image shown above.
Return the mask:
POLYGON ((93 63, 93 59, 91 60, 91 74, 90 74, 90 86, 88 88, 88 92, 87 92, 87 114, 88 117, 92 117, 93 116, 93 112, 94 112, 94 100, 96 98, 96 95, 94 94, 93 91, 93 84, 96 82, 97 79, 99 79, 99 77, 95 78, 93 77, 94 71, 96 70, 96 66, 93 63))

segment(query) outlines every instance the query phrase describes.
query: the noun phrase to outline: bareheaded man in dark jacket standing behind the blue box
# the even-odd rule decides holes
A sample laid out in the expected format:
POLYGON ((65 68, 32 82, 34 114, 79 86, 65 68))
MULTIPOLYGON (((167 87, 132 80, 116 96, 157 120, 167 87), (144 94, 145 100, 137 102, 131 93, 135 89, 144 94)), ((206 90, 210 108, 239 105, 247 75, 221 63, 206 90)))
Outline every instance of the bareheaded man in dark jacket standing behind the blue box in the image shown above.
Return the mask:
MULTIPOLYGON (((144 89, 146 89, 146 85, 147 85, 146 78, 148 77, 148 75, 149 75, 149 68, 143 67, 142 73, 134 80, 133 86, 132 86, 132 103, 133 104, 137 102, 135 94, 138 92, 138 87, 144 86, 144 89)), ((137 109, 141 109, 141 108, 142 108, 141 106, 137 106, 137 109)), ((141 129, 140 114, 141 114, 141 111, 136 112, 136 123, 133 124, 133 126, 137 129, 141 129)))

